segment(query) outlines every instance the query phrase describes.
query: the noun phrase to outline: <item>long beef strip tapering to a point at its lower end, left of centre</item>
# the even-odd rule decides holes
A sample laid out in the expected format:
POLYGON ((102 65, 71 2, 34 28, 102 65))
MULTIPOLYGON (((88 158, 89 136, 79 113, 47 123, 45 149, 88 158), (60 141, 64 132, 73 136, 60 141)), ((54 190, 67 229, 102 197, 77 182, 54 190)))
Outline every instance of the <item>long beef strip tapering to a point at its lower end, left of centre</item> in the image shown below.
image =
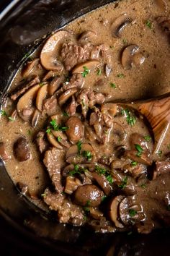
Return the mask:
POLYGON ((43 162, 48 170, 50 179, 52 180, 55 190, 59 193, 63 191, 61 185, 61 168, 65 166, 65 152, 52 148, 45 152, 43 162))

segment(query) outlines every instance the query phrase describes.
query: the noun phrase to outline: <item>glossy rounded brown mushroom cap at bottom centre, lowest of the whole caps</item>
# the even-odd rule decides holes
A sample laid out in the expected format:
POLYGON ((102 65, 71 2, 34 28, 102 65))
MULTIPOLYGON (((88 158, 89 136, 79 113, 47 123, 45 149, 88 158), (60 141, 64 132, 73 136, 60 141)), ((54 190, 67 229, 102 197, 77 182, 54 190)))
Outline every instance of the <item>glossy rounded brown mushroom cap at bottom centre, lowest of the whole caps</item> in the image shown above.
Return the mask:
POLYGON ((94 184, 80 186, 73 193, 73 200, 77 205, 96 207, 102 202, 104 193, 94 184))

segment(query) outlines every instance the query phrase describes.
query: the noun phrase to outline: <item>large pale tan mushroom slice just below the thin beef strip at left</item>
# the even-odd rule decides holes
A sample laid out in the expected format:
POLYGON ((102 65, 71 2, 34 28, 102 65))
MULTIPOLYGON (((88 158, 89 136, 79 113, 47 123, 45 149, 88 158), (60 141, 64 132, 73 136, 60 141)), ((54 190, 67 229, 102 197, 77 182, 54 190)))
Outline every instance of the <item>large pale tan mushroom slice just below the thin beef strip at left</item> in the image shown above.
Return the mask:
POLYGON ((35 97, 37 96, 37 91, 39 89, 40 85, 35 85, 34 87, 30 88, 27 93, 24 93, 21 98, 19 98, 17 103, 17 112, 24 121, 30 120, 30 116, 32 115, 32 104, 35 100, 35 97), (25 113, 27 110, 30 112, 25 113))

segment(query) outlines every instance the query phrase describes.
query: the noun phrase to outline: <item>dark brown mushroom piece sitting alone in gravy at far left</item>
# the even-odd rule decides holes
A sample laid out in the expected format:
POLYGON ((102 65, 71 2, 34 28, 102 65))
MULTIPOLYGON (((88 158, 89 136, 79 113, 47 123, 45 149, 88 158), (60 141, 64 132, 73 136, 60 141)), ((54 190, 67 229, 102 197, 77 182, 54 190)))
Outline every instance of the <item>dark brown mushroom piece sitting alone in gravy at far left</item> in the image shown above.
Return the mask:
POLYGON ((24 162, 31 158, 30 147, 25 137, 19 137, 14 142, 14 156, 19 162, 24 162))

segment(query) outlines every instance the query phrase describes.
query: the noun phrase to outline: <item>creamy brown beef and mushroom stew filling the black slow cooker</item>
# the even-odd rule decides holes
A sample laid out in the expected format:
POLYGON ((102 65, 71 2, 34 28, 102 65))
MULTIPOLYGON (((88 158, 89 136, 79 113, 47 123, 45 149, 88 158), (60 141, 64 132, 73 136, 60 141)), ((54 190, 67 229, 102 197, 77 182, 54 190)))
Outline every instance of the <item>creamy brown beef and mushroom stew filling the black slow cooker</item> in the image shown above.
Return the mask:
POLYGON ((26 54, 1 108, 19 191, 99 232, 170 226, 170 3, 117 1, 26 54))

